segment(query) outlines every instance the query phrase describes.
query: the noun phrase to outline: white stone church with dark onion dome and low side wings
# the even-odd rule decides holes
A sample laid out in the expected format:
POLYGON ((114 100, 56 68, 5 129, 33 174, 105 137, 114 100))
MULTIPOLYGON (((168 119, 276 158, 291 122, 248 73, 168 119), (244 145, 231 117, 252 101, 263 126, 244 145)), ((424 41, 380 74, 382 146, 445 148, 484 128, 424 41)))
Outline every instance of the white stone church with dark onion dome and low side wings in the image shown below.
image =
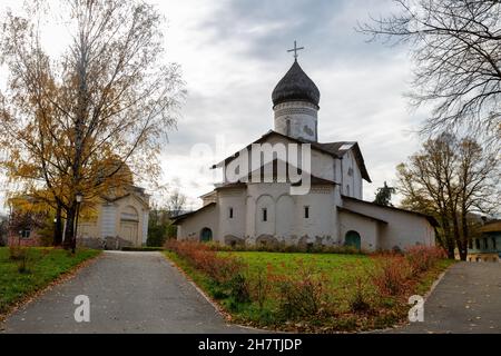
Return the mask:
MULTIPOLYGON (((320 98, 318 88, 296 58, 273 92, 274 130, 213 167, 223 169, 225 181, 202 197, 202 209, 176 219, 178 239, 228 245, 351 245, 366 251, 433 246, 433 218, 363 200, 363 180, 371 182, 371 178, 357 142, 318 142, 320 98), (249 166, 248 170, 235 169, 235 161, 252 147, 266 144, 310 145, 307 194, 292 194, 292 187, 302 182, 288 179, 287 174, 281 179, 283 171, 275 156, 263 161, 259 157, 257 176, 272 171, 272 179, 249 179, 248 171, 256 171, 249 166), (228 170, 237 179, 228 179, 228 170)), ((302 164, 296 167, 304 168, 302 164)))

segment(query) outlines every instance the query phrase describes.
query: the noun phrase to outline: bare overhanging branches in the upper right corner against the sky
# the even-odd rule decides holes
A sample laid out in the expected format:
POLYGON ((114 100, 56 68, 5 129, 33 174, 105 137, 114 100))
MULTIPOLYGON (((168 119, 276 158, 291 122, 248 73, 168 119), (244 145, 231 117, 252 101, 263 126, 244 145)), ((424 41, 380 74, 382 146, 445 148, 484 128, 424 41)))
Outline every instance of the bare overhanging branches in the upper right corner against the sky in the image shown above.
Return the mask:
POLYGON ((395 0, 399 12, 358 26, 371 40, 410 43, 415 106, 431 105, 423 132, 468 130, 501 139, 501 2, 395 0))

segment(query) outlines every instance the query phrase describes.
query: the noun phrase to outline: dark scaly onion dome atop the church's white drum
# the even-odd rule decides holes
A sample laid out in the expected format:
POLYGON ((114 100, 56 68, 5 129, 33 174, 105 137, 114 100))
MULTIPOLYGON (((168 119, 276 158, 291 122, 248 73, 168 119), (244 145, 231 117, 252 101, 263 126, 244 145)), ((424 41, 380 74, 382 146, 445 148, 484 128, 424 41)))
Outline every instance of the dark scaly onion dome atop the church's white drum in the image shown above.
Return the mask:
POLYGON ((272 98, 274 106, 286 101, 308 101, 318 106, 320 97, 318 88, 295 61, 276 86, 272 98))

